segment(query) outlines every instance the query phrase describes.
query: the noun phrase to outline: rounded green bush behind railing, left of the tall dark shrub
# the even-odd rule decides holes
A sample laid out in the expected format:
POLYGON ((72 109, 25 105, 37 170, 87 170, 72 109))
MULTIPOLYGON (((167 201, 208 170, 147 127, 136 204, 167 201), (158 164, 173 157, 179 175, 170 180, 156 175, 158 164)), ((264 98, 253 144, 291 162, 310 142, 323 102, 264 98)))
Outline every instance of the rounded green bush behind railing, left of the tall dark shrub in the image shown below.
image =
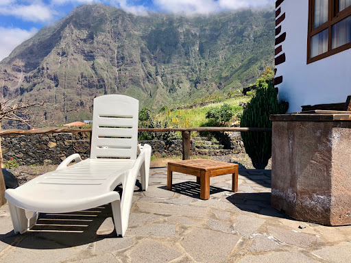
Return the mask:
POLYGON ((208 118, 208 126, 225 126, 233 116, 233 109, 227 103, 224 103, 219 108, 210 108, 206 112, 206 118, 208 118))

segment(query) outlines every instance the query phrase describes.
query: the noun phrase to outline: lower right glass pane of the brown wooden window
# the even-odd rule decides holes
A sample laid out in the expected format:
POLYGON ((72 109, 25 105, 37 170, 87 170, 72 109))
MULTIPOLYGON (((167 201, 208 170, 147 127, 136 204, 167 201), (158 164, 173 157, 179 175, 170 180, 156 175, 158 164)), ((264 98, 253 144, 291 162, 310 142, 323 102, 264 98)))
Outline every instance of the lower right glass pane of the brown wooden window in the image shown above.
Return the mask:
POLYGON ((351 42, 351 16, 332 25, 332 49, 351 42))

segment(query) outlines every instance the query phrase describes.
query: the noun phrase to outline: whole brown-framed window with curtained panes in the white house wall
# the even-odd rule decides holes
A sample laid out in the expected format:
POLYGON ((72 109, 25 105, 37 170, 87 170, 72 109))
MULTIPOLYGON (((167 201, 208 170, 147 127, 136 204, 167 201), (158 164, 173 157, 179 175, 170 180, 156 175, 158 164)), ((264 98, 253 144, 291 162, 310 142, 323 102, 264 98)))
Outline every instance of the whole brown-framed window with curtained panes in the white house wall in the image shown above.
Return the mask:
POLYGON ((351 0, 309 0, 307 64, 351 47, 351 0))

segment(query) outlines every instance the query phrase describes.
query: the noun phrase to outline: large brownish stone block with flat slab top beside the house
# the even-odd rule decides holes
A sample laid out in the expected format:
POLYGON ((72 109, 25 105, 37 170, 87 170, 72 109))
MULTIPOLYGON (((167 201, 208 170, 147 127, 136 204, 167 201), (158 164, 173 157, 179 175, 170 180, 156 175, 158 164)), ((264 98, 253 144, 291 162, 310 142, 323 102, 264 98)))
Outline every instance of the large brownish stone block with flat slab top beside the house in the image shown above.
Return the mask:
POLYGON ((271 205, 322 225, 351 224, 351 114, 272 115, 271 205))

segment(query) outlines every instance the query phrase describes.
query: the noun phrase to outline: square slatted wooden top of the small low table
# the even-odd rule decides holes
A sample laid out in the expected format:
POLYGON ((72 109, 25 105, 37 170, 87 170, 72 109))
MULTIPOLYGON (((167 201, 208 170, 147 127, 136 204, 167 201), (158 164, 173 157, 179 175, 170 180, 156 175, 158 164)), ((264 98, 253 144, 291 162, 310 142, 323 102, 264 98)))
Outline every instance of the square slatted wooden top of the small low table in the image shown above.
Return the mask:
POLYGON ((180 166, 184 168, 193 168, 193 169, 202 170, 206 172, 224 169, 224 168, 234 168, 239 166, 239 164, 230 164, 229 162, 219 162, 219 161, 206 160, 206 159, 173 161, 173 162, 168 162, 168 164, 171 164, 173 166, 180 166))

